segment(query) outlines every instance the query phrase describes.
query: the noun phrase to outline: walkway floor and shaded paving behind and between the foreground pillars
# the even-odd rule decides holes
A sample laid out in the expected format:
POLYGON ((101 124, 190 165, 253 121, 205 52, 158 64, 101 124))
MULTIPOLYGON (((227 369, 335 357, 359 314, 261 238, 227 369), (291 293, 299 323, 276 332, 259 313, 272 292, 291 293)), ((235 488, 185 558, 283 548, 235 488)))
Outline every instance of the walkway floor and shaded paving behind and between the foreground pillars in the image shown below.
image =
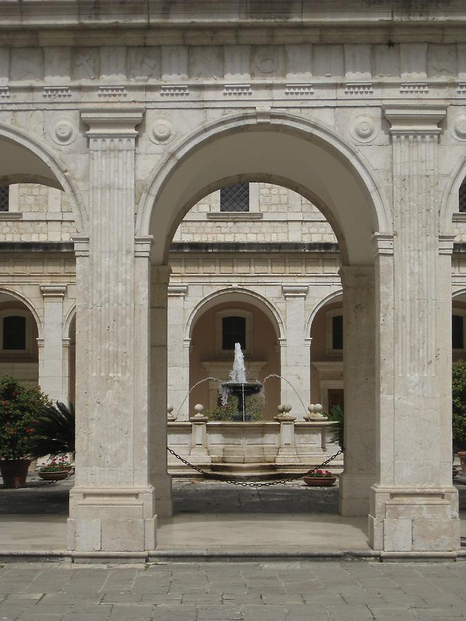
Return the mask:
MULTIPOLYGON (((43 484, 32 475, 26 489, 0 487, 0 558, 66 555, 71 486, 72 478, 43 484)), ((458 488, 466 536, 466 486, 458 488)), ((173 517, 159 520, 155 560, 375 555, 367 519, 338 515, 337 487, 297 481, 255 489, 186 477, 173 480, 173 505, 173 517)))

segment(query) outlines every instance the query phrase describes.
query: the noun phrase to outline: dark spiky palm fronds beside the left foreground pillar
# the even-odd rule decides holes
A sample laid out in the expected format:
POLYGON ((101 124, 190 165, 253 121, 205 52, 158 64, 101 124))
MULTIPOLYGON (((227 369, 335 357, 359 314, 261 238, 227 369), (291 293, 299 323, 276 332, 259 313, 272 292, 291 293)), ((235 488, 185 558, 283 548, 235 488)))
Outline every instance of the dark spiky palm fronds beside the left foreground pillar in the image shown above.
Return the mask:
POLYGON ((44 407, 37 417, 35 433, 32 457, 75 453, 75 406, 57 401, 55 406, 44 407))

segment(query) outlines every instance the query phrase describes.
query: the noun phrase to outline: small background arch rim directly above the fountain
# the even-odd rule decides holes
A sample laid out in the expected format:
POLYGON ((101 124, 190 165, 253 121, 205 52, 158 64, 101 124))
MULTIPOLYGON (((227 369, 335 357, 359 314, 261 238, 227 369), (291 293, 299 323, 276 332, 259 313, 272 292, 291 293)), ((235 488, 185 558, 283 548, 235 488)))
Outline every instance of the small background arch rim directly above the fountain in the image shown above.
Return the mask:
POLYGON ((277 339, 284 339, 284 322, 275 306, 273 306, 268 299, 259 293, 244 287, 238 287, 236 289, 232 289, 231 287, 223 288, 213 291, 213 293, 209 293, 206 297, 202 298, 193 308, 193 311, 191 311, 191 314, 188 317, 186 327, 184 328, 184 338, 191 339, 193 328, 197 322, 197 319, 204 315, 204 313, 206 313, 206 311, 210 308, 213 308, 213 306, 217 306, 217 304, 222 304, 223 302, 247 302, 253 306, 256 306, 263 311, 269 319, 271 319, 277 339))

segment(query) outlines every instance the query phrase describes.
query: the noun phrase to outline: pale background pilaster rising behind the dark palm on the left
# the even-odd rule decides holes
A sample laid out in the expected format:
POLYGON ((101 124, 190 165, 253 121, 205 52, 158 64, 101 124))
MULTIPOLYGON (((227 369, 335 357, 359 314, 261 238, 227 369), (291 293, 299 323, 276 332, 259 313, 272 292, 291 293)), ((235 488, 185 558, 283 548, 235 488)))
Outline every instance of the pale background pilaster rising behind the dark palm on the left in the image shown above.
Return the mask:
POLYGON ((64 392, 63 300, 66 285, 41 285, 43 296, 43 344, 39 351, 39 386, 52 401, 67 401, 64 392))

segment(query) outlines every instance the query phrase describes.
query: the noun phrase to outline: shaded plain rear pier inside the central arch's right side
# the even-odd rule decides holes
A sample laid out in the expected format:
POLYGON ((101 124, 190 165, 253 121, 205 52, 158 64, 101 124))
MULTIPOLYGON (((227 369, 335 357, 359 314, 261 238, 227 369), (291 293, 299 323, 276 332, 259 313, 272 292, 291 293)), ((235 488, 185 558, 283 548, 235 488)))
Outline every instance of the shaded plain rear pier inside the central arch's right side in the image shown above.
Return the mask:
POLYGON ((343 286, 344 472, 340 513, 367 515, 376 481, 376 309, 372 266, 340 269, 343 286))

